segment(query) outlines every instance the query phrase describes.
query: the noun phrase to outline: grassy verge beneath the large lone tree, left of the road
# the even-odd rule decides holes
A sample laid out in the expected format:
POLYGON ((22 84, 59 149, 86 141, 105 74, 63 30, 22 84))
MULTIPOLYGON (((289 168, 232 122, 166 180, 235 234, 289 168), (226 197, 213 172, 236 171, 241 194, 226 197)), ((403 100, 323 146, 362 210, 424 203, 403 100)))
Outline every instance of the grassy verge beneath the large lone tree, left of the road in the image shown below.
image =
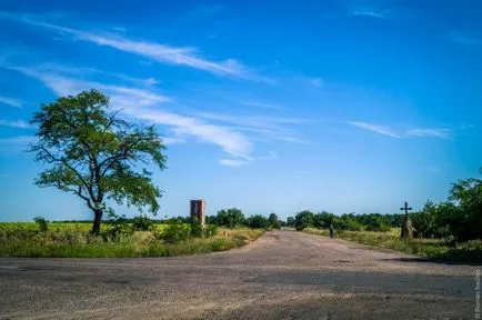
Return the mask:
MULTIPOLYGON (((151 231, 134 231, 116 238, 90 234, 90 223, 49 223, 41 232, 33 222, 0 223, 2 258, 134 258, 174 257, 223 251, 258 239, 264 230, 219 229, 212 237, 189 237, 182 241, 160 239, 168 224, 154 224, 151 231)), ((103 234, 106 233, 106 234, 103 234)))

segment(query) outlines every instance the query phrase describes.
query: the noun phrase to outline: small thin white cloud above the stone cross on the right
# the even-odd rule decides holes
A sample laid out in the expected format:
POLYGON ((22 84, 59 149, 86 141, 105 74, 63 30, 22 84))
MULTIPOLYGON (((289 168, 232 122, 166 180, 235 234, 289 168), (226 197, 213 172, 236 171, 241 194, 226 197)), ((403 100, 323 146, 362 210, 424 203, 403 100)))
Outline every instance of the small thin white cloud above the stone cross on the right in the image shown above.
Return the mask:
POLYGON ((348 121, 348 124, 369 130, 379 134, 388 136, 391 138, 440 138, 450 139, 453 134, 452 129, 448 128, 414 128, 414 129, 395 129, 386 126, 348 121))

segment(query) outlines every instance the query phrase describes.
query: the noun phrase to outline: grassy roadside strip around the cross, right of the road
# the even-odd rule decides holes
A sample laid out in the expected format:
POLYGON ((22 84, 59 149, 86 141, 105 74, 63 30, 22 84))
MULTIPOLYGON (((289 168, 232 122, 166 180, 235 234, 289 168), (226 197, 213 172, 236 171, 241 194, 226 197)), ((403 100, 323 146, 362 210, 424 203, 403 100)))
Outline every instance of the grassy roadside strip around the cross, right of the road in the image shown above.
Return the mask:
MULTIPOLYGON (((329 237, 327 229, 307 228, 304 232, 329 237)), ((393 249, 425 258, 444 259, 454 262, 481 263, 482 240, 462 243, 448 242, 442 239, 400 239, 400 229, 393 228, 388 232, 370 231, 338 231, 335 238, 355 241, 363 244, 393 249)))

